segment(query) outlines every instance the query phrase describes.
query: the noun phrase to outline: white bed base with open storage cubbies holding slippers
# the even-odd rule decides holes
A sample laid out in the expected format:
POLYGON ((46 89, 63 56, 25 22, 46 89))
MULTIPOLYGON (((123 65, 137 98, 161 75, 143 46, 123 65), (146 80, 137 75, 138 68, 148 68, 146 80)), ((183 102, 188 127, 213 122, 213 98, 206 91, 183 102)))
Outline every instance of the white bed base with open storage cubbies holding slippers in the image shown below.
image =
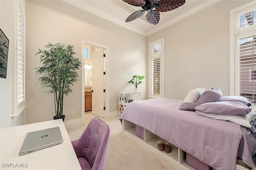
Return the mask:
MULTIPOLYGON (((136 136, 136 127, 134 123, 131 123, 126 120, 122 120, 122 128, 124 132, 129 133, 130 135, 134 136, 139 141, 146 144, 146 146, 149 146, 151 148, 154 148, 153 150, 157 152, 158 154, 164 156, 168 160, 170 160, 175 166, 178 168, 181 168, 182 170, 195 170, 188 164, 186 164, 186 152, 184 152, 182 149, 179 149, 178 147, 174 146, 172 147, 172 152, 166 153, 163 151, 160 151, 157 148, 157 141, 163 140, 157 135, 153 134, 152 132, 148 131, 147 129, 144 129, 144 139, 141 139, 140 137, 136 136)), ((245 168, 244 166, 241 166, 239 164, 236 164, 236 170, 249 170, 248 168, 245 168)), ((256 167, 252 168, 251 170, 256 170, 256 167)))

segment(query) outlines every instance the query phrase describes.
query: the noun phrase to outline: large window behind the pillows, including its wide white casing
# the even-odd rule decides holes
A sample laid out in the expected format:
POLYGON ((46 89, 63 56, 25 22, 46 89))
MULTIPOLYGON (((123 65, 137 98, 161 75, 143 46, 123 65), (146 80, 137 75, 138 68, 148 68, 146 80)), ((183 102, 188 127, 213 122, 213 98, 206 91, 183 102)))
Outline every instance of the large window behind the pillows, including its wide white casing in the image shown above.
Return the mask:
POLYGON ((230 95, 256 103, 256 2, 230 11, 230 95))

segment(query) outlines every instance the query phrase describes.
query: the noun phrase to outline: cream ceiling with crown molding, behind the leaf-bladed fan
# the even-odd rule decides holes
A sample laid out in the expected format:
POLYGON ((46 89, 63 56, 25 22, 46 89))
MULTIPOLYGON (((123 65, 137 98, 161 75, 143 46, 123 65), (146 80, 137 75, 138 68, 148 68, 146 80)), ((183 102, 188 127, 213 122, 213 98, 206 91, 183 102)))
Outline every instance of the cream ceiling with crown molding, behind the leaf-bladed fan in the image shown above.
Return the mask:
POLYGON ((146 14, 140 18, 125 22, 130 14, 141 7, 132 6, 122 0, 63 0, 78 8, 86 10, 92 14, 112 21, 118 25, 126 27, 132 31, 148 36, 161 29, 172 25, 188 16, 195 14, 221 0, 186 0, 186 3, 175 10, 160 12, 160 21, 157 25, 152 25, 146 21, 146 14))

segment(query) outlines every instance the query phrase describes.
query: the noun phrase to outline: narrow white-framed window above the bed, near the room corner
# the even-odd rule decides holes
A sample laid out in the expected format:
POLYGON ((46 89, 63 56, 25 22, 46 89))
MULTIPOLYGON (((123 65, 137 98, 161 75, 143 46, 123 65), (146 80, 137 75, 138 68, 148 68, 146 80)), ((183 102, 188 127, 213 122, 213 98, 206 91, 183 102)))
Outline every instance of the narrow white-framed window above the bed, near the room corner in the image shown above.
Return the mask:
POLYGON ((150 98, 163 97, 163 41, 150 43, 150 98))

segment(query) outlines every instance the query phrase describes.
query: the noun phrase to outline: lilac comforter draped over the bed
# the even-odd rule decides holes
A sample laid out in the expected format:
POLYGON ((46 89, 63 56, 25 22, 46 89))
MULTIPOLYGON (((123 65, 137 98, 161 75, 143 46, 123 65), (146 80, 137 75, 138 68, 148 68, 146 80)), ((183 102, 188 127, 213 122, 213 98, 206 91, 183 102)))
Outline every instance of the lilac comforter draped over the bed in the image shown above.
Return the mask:
POLYGON ((238 152, 254 167, 251 153, 256 140, 248 146, 246 137, 252 139, 252 134, 247 128, 180 110, 182 103, 168 98, 130 102, 119 119, 148 129, 217 170, 235 170, 238 152))

